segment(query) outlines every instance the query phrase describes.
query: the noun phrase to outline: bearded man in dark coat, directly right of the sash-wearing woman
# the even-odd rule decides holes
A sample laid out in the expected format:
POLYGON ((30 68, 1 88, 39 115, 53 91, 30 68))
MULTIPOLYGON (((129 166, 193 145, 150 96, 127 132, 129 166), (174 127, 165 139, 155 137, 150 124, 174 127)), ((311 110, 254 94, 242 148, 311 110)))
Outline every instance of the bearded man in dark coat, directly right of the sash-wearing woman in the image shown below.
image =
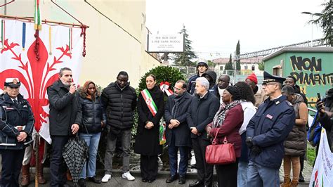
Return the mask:
POLYGON ((178 149, 181 153, 178 174, 179 184, 185 183, 185 174, 188 170, 188 150, 192 145, 190 131, 186 122, 186 112, 191 103, 192 96, 186 91, 186 83, 178 80, 174 86, 174 95, 169 96, 165 105, 164 117, 166 120, 166 145, 169 146, 170 176, 166 183, 177 179, 178 149))

